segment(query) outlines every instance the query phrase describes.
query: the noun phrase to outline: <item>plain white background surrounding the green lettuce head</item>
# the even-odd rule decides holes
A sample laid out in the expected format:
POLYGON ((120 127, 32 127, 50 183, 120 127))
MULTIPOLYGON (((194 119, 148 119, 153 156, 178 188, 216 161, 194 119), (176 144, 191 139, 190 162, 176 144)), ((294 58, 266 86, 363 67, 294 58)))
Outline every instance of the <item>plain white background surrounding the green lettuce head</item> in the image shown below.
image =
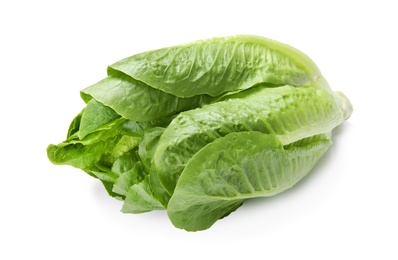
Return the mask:
POLYGON ((1 259, 398 259, 395 1, 2 1, 1 259), (308 54, 352 117, 293 189, 209 230, 120 212, 84 172, 54 166, 79 91, 138 52, 255 34, 308 54))

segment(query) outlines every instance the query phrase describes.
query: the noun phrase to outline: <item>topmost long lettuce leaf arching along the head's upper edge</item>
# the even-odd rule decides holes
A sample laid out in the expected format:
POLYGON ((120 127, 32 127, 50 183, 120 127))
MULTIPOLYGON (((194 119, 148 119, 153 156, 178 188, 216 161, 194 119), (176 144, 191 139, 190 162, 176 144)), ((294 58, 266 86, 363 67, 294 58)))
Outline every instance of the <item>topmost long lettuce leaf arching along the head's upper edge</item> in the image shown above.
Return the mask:
POLYGON ((178 97, 243 90, 266 82, 317 84, 329 90, 315 63, 299 50, 270 39, 240 35, 140 53, 111 65, 152 88, 178 97))

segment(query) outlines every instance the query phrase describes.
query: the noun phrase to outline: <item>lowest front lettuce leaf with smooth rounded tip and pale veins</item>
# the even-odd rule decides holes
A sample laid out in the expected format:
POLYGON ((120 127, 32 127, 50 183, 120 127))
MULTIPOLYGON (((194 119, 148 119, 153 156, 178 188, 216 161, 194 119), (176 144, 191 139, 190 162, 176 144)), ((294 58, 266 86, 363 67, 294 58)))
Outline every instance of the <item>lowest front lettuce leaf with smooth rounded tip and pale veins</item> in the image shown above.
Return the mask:
POLYGON ((285 148, 275 135, 231 133, 195 154, 185 167, 167 213, 188 231, 209 228, 245 199, 278 194, 296 184, 331 145, 330 135, 285 148))

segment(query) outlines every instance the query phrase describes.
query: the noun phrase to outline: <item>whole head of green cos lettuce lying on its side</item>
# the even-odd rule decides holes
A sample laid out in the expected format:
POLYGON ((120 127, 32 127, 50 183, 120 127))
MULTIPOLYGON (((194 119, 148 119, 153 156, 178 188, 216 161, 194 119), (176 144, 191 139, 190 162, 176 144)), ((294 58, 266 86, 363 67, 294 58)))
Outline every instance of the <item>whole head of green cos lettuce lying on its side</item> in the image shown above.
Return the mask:
POLYGON ((128 57, 81 97, 50 161, 99 179, 123 212, 164 209, 188 231, 294 186, 352 113, 305 54, 247 35, 128 57))

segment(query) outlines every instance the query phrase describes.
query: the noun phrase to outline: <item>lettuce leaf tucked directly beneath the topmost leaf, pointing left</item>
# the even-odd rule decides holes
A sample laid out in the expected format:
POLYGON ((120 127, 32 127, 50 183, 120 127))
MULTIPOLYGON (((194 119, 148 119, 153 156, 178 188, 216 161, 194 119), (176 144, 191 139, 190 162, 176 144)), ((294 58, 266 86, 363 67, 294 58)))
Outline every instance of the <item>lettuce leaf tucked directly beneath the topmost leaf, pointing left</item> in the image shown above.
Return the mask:
POLYGON ((214 99, 208 95, 179 98, 120 72, 82 90, 81 96, 86 102, 94 98, 120 116, 137 122, 171 116, 208 104, 214 99))

